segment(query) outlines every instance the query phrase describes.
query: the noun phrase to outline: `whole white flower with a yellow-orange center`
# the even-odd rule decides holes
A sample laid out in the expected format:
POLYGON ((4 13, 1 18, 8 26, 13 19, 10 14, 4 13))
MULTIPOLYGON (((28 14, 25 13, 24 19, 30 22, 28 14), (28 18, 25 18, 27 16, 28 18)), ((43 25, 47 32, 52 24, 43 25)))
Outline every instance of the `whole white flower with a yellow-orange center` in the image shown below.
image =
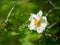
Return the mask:
POLYGON ((40 10, 37 15, 31 14, 29 21, 31 22, 28 28, 30 30, 35 30, 38 33, 42 33, 47 26, 46 16, 42 16, 42 11, 40 10))

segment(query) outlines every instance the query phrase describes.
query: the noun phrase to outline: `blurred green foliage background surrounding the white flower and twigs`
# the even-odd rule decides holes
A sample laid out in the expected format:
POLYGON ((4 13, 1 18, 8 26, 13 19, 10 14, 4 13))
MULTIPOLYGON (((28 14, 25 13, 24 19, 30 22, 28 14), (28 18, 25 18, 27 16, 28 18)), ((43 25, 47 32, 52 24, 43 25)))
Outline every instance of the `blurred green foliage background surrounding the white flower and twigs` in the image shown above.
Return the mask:
POLYGON ((55 9, 47 16, 48 26, 57 24, 38 34, 28 29, 28 19, 39 10, 46 15, 53 8, 48 0, 0 0, 0 45, 60 45, 60 0, 51 1, 55 9), (14 10, 5 23, 15 1, 14 10))

